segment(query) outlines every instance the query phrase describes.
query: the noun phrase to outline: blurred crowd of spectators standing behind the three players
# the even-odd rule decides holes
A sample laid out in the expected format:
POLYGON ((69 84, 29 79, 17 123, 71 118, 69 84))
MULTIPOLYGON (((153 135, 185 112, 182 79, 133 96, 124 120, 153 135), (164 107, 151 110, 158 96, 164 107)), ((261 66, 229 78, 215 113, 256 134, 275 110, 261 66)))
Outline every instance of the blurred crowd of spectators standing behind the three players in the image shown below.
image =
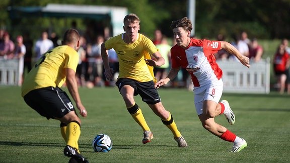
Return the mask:
MULTIPOLYGON (((75 26, 75 28, 77 28, 75 26)), ((100 45, 109 37, 106 35, 96 35, 87 37, 86 33, 81 32, 81 48, 79 50, 80 61, 77 68, 77 78, 80 87, 102 87, 102 86, 114 86, 114 83, 118 76, 118 56, 116 52, 111 49, 108 51, 111 67, 114 68, 114 79, 107 81, 103 75, 103 62, 100 54, 100 45)), ((243 55, 248 56, 253 62, 259 62, 262 59, 263 47, 259 44, 257 38, 248 38, 246 32, 241 32, 239 35, 234 35, 231 38, 231 42, 243 55)), ((160 29, 155 30, 153 43, 160 49, 161 54, 166 59, 166 64, 162 67, 155 67, 154 73, 158 79, 167 75, 171 64, 170 48, 175 45, 174 39, 167 38, 160 29), (173 40, 173 41, 172 41, 173 40)), ((216 40, 225 41, 226 38, 219 34, 216 40)), ((31 70, 31 66, 34 62, 41 57, 43 53, 60 45, 59 37, 54 33, 43 31, 40 34, 40 38, 34 43, 30 38, 29 33, 24 33, 22 36, 16 36, 11 38, 10 34, 5 30, 0 30, 0 57, 5 59, 20 59, 21 69, 31 70)), ((276 77, 277 84, 275 85, 277 91, 281 94, 284 89, 290 94, 290 75, 289 75, 289 55, 290 48, 288 47, 288 40, 283 39, 281 45, 277 47, 277 51, 273 54, 273 71, 276 77), (287 55, 286 55, 287 54, 287 55), (288 56, 288 57, 286 57, 288 56)), ((220 50, 215 54, 216 60, 232 60, 236 61, 235 56, 228 54, 225 50, 220 50)), ((172 82, 172 86, 186 87, 191 89, 192 84, 188 79, 187 73, 183 73, 181 69, 180 74, 172 82)), ((23 75, 24 70, 20 71, 23 75)), ((23 77, 20 80, 21 85, 23 77)))

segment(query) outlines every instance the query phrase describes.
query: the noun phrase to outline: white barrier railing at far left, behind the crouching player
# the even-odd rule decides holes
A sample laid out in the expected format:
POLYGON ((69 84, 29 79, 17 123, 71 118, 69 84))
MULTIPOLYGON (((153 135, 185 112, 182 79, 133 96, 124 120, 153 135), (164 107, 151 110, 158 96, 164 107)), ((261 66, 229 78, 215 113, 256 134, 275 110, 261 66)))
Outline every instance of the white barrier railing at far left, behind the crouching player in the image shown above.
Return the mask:
POLYGON ((20 85, 19 59, 0 58, 0 85, 20 85))

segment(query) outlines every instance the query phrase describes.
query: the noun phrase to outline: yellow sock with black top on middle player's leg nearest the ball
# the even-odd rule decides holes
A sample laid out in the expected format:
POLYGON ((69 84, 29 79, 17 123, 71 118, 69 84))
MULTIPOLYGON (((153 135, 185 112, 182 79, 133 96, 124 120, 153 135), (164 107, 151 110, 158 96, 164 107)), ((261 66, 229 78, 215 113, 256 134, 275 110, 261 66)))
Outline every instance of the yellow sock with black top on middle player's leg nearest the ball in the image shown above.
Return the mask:
POLYGON ((149 126, 147 125, 143 113, 139 106, 135 103, 133 106, 127 108, 128 112, 131 114, 133 119, 141 126, 143 131, 150 131, 149 126))

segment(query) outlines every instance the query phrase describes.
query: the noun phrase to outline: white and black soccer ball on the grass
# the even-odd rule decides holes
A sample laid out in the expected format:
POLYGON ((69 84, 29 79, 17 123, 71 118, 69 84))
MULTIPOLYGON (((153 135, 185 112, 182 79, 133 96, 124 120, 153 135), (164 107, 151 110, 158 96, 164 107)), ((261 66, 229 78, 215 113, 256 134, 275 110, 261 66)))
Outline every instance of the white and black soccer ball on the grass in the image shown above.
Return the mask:
POLYGON ((99 134, 95 136, 92 145, 96 152, 108 152, 113 146, 111 138, 106 134, 99 134))

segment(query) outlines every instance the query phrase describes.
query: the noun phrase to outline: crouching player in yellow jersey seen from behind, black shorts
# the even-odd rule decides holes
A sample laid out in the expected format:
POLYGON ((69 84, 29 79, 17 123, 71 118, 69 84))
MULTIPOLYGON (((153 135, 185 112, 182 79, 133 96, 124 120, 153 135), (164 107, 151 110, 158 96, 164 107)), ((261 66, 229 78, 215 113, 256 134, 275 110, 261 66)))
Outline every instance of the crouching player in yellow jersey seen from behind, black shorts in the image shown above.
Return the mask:
POLYGON ((62 45, 44 53, 27 74, 22 85, 22 96, 27 105, 41 116, 60 121, 61 135, 66 143, 64 155, 78 162, 88 162, 80 154, 78 145, 81 119, 67 94, 60 89, 66 81, 81 116, 86 117, 87 111, 81 102, 75 76, 79 48, 79 32, 68 29, 64 33, 62 45))

